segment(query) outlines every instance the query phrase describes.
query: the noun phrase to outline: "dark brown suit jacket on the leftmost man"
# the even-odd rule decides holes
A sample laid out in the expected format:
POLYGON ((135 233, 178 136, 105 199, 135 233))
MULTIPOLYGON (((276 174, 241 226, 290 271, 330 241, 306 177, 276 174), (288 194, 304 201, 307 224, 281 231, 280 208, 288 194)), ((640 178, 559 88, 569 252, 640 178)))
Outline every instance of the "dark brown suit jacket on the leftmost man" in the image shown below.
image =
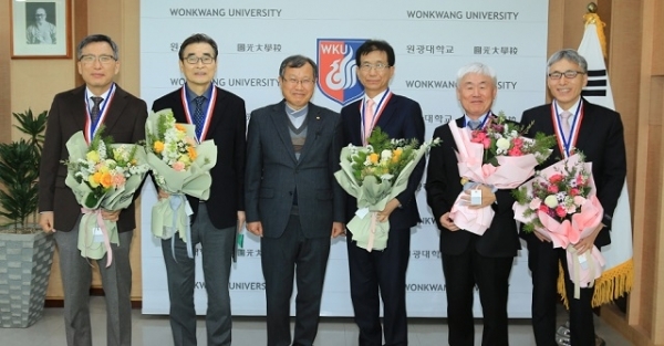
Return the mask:
MULTIPOLYGON (((145 139, 147 106, 143 99, 117 87, 104 120, 105 135, 115 143, 134 144, 145 139)), ((85 85, 55 95, 49 111, 46 137, 39 172, 39 210, 53 211, 53 227, 69 232, 81 214, 81 206, 64 185, 69 159, 66 141, 85 127, 85 85)), ((134 203, 120 213, 118 232, 136 228, 134 203)))

